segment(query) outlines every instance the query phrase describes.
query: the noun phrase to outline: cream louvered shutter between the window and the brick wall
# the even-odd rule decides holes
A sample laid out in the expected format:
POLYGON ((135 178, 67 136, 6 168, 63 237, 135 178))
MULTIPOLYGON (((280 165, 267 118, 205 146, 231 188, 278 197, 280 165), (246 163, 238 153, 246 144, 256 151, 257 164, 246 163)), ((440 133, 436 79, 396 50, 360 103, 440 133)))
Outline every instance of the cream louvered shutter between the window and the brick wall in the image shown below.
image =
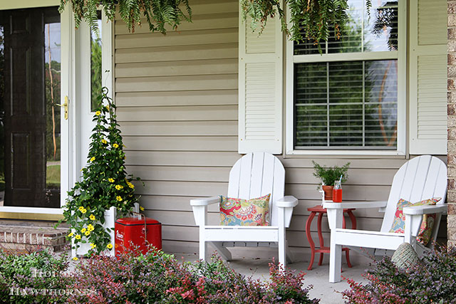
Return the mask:
POLYGON ((447 154, 447 1, 415 1, 410 23, 410 154, 447 154))

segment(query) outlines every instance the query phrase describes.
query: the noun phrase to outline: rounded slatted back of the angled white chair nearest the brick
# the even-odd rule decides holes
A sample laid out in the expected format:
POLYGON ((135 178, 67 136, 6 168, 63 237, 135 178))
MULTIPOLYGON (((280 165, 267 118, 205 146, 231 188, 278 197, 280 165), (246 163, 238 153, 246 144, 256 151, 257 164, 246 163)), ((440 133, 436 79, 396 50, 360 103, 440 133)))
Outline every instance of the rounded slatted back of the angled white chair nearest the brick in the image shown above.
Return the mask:
POLYGON ((447 166, 442 160, 430 155, 410 159, 394 175, 381 231, 390 231, 399 199, 416 203, 441 197, 437 204, 445 204, 446 194, 447 166))

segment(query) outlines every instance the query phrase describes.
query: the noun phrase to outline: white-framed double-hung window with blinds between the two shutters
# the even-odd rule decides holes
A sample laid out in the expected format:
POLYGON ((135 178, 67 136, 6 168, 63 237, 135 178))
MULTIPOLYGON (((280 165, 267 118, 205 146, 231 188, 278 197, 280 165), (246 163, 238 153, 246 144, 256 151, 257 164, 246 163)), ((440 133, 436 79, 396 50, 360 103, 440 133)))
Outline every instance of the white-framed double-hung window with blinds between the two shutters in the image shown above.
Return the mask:
POLYGON ((370 12, 365 0, 348 4, 340 39, 320 43, 321 55, 316 43, 288 44, 287 152, 402 150, 398 0, 375 1, 370 12))

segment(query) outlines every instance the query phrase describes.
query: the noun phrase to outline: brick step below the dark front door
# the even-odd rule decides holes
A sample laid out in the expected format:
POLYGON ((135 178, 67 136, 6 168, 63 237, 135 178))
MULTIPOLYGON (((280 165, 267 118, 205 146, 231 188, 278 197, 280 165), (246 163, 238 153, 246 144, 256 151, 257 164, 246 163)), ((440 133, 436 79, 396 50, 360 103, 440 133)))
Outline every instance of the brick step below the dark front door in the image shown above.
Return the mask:
POLYGON ((18 251, 49 248, 57 252, 68 245, 65 238, 67 234, 67 228, 0 225, 0 248, 18 251))

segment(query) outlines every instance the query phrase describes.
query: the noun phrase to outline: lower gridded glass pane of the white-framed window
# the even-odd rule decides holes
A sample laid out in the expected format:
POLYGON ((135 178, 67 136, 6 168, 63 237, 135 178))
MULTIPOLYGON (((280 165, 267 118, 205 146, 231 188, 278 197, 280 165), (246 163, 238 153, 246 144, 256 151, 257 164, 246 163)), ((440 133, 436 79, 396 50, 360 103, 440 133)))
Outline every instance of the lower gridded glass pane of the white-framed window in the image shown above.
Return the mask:
POLYGON ((396 64, 395 60, 295 64, 296 148, 395 149, 396 64), (315 74, 326 75, 326 83, 311 81, 315 74))

